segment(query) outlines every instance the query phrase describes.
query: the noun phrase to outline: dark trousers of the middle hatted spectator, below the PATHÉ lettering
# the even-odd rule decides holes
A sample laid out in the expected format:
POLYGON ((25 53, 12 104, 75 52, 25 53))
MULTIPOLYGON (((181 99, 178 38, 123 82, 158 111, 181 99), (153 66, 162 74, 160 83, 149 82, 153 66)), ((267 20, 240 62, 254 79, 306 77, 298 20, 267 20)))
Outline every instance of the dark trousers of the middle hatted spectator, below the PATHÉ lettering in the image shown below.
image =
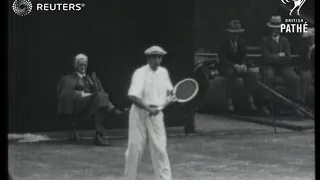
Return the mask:
MULTIPOLYGON (((261 74, 263 76, 263 83, 267 86, 274 88, 273 83, 275 76, 279 75, 283 78, 285 85, 291 90, 292 100, 295 102, 301 102, 301 77, 294 71, 292 66, 274 67, 264 66, 261 68, 261 74)), ((267 94, 267 99, 271 94, 267 94)))

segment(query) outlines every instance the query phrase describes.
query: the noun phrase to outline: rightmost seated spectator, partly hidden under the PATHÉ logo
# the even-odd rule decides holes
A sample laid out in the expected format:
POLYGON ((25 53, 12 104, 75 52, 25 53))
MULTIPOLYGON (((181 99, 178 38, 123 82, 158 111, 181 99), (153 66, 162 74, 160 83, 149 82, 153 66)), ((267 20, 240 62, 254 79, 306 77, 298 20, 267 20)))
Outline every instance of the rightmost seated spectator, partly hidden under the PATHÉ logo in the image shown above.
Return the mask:
POLYGON ((308 32, 302 34, 304 39, 301 45, 300 58, 296 69, 301 76, 301 90, 303 103, 307 103, 309 86, 312 84, 314 75, 314 53, 315 53, 315 29, 309 28, 308 32))

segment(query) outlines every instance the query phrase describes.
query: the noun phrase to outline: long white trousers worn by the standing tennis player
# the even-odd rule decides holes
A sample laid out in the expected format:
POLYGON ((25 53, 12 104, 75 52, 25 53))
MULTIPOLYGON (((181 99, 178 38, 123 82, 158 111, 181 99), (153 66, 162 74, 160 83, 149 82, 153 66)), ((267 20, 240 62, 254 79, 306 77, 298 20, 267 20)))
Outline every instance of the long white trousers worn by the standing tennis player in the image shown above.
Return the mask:
POLYGON ((125 176, 128 180, 136 180, 138 165, 147 142, 156 180, 171 180, 163 113, 149 116, 147 111, 132 105, 129 114, 128 148, 125 154, 125 176))

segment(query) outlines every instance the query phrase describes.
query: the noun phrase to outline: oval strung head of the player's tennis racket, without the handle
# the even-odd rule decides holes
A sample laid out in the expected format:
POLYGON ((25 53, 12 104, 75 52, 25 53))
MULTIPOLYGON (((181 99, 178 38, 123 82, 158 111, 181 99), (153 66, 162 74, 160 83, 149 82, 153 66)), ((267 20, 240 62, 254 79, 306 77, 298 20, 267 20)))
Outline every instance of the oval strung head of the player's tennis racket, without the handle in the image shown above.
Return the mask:
POLYGON ((185 103, 192 100, 199 91, 199 84, 192 78, 179 81, 173 88, 173 94, 177 97, 177 102, 185 103))

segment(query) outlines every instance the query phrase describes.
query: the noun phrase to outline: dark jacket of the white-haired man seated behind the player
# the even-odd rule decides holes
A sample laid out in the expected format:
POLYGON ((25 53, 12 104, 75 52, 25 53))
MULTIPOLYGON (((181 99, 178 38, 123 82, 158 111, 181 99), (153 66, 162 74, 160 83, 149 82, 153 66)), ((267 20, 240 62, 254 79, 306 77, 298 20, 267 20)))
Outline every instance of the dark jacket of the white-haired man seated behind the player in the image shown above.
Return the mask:
MULTIPOLYGON (((58 115, 60 114, 74 114, 84 108, 87 101, 98 99, 97 102, 93 102, 96 106, 108 106, 112 105, 109 101, 109 95, 105 93, 100 80, 96 77, 92 78, 87 75, 89 81, 93 83, 95 87, 94 91, 97 91, 94 96, 79 98, 75 90, 79 85, 81 86, 81 79, 76 73, 66 75, 61 78, 57 85, 57 96, 58 96, 58 115), (98 103, 98 104, 97 104, 98 103)), ((91 92, 94 93, 94 92, 91 92)), ((112 105, 113 106, 113 105, 112 105)))

